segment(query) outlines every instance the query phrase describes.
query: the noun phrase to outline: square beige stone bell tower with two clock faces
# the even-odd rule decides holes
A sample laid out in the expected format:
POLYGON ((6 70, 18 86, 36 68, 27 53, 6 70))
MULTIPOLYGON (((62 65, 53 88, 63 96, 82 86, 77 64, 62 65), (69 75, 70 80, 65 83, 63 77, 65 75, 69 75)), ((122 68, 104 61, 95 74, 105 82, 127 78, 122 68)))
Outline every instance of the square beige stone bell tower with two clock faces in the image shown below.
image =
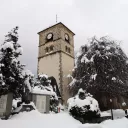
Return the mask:
POLYGON ((39 33, 38 74, 54 76, 62 100, 69 98, 67 77, 74 68, 74 33, 63 23, 57 23, 39 33))

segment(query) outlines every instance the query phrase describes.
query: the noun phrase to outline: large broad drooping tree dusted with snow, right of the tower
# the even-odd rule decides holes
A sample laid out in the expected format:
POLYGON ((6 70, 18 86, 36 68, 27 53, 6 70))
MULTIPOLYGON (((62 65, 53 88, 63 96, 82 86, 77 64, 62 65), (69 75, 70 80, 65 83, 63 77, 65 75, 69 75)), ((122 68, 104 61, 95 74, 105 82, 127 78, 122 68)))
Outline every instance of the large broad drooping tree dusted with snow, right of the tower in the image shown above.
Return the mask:
POLYGON ((118 41, 96 39, 80 48, 71 91, 83 88, 93 95, 128 96, 128 58, 118 41))

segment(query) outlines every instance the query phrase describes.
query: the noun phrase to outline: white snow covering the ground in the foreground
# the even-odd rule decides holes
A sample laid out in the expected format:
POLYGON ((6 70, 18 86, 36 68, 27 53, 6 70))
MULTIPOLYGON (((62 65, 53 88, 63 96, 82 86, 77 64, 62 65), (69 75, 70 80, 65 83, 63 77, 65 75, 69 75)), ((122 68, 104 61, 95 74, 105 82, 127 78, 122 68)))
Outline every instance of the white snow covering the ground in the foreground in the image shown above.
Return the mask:
MULTIPOLYGON (((109 111, 108 111, 109 112, 109 111)), ((104 112, 103 115, 107 115, 104 112)), ((114 110, 115 117, 124 116, 124 111, 114 110)), ((9 120, 0 120, 0 128, 128 128, 128 119, 125 117, 114 121, 107 120, 101 124, 81 124, 67 112, 59 114, 41 114, 34 110, 14 115, 9 120)))

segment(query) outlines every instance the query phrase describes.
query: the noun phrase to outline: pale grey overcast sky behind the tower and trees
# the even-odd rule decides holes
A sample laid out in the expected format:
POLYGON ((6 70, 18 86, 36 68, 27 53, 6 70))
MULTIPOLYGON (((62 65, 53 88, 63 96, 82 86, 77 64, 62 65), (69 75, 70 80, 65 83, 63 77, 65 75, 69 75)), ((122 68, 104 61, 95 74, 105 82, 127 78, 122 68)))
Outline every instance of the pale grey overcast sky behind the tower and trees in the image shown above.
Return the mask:
POLYGON ((128 53, 128 0, 0 0, 0 43, 4 35, 19 26, 22 62, 37 71, 37 32, 58 22, 75 35, 75 49, 94 35, 121 40, 128 53))

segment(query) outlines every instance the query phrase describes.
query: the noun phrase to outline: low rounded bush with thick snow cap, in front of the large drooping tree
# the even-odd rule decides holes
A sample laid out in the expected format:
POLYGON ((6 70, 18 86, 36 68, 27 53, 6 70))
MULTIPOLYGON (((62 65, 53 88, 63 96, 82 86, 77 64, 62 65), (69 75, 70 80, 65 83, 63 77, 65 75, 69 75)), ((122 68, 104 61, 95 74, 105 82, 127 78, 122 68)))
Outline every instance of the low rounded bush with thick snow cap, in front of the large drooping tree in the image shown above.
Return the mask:
POLYGON ((97 100, 92 95, 79 89, 76 96, 68 99, 68 111, 76 119, 91 120, 100 117, 100 109, 97 100))

